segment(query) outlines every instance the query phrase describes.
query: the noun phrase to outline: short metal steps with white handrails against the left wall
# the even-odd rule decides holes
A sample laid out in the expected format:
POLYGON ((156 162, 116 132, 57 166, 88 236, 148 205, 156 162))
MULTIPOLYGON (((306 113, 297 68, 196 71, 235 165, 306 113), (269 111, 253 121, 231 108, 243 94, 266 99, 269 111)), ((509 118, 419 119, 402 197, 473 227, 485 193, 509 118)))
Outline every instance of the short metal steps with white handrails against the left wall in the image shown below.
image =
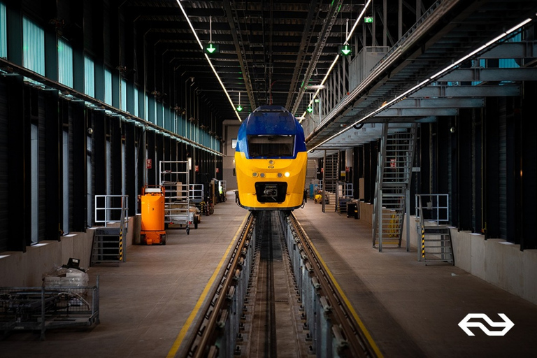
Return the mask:
POLYGON ((95 229, 90 266, 125 262, 124 238, 129 215, 128 195, 96 195, 94 222, 104 227, 95 229))

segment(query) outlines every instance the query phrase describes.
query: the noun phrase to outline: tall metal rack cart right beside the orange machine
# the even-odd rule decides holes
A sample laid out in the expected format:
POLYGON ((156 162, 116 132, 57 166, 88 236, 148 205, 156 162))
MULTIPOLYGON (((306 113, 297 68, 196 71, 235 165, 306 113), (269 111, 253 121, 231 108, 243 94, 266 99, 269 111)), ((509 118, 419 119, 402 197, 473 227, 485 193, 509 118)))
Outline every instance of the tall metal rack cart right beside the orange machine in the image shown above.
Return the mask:
POLYGON ((159 162, 160 185, 164 187, 164 223, 185 225, 187 235, 194 213, 190 211, 189 162, 159 162))

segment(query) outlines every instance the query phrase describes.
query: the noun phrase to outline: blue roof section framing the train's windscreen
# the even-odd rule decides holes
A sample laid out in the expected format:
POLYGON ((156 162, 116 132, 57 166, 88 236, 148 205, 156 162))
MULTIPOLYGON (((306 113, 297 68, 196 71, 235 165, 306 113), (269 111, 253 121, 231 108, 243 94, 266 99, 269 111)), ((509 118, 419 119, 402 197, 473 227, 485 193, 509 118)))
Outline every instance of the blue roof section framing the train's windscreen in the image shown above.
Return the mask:
POLYGON ((259 106, 238 129, 236 151, 247 152, 248 136, 295 136, 294 152, 306 152, 304 130, 298 120, 282 106, 259 106))

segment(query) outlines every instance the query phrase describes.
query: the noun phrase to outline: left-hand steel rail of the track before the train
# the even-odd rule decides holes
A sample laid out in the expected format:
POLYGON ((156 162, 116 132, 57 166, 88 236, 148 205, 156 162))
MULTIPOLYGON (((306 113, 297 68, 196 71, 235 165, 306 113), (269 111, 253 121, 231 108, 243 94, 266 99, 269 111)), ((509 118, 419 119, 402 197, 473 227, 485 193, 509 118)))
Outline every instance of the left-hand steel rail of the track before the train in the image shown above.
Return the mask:
POLYGON ((226 265, 226 269, 220 275, 218 285, 213 287, 213 291, 205 303, 201 319, 194 329, 194 336, 188 345, 189 357, 209 357, 216 356, 215 341, 217 339, 217 328, 221 328, 220 322, 227 320, 227 307, 229 306, 229 296, 234 293, 234 280, 240 274, 239 266, 245 257, 245 249, 251 242, 252 229, 255 217, 250 213, 248 220, 243 227, 231 257, 226 265), (239 272, 237 272, 239 271, 239 272))

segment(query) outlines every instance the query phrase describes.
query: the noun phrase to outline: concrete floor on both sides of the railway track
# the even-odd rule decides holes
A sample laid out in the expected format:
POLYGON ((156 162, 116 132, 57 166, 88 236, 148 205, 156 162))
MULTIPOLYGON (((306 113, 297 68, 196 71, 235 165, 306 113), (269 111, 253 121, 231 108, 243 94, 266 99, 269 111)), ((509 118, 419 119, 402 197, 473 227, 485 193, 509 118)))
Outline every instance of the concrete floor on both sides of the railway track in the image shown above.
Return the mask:
MULTIPOLYGON (((308 201, 294 213, 385 357, 535 357, 537 306, 447 264, 425 266, 415 249, 371 248, 371 226, 308 201), (515 326, 486 336, 457 325, 468 313, 515 326)), ((169 229, 166 245, 129 247, 120 266, 95 266, 101 323, 93 329, 16 332, 0 341, 0 357, 173 357, 195 319, 200 297, 248 215, 234 203, 215 206, 198 229, 169 229)), ((404 245, 403 245, 404 246, 404 245)), ((477 320, 479 321, 479 320, 477 320)))

